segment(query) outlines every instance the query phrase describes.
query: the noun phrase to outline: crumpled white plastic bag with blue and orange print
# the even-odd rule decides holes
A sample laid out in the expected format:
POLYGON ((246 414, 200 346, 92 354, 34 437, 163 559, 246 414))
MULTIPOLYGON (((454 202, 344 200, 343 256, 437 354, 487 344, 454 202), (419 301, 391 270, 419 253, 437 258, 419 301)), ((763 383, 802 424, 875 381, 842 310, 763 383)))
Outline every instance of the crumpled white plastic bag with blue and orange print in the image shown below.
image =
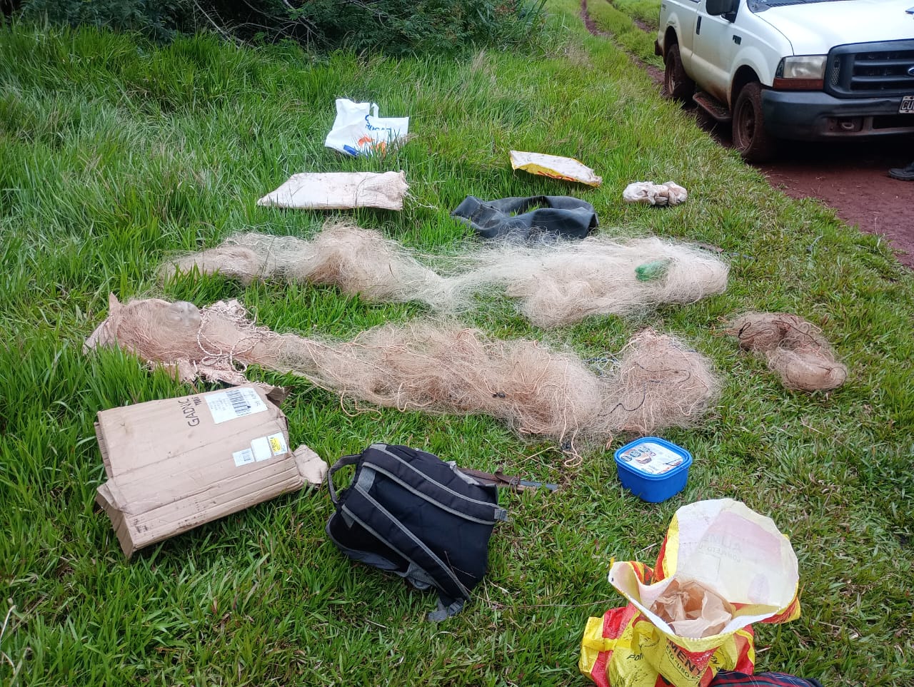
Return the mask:
POLYGON ((334 127, 324 145, 356 157, 384 153, 388 145, 404 141, 408 133, 409 117, 378 117, 377 103, 338 98, 334 127))

